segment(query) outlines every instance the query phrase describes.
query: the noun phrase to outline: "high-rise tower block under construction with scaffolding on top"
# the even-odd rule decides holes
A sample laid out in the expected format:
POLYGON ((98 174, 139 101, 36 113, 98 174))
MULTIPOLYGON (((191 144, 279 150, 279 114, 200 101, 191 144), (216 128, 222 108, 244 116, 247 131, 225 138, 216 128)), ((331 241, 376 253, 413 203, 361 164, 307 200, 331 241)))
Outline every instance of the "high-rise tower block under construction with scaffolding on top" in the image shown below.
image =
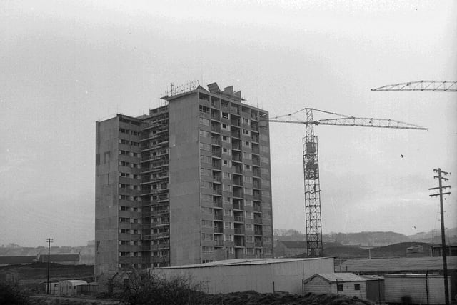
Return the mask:
POLYGON ((273 257, 268 112, 216 83, 96 122, 96 276, 273 257))

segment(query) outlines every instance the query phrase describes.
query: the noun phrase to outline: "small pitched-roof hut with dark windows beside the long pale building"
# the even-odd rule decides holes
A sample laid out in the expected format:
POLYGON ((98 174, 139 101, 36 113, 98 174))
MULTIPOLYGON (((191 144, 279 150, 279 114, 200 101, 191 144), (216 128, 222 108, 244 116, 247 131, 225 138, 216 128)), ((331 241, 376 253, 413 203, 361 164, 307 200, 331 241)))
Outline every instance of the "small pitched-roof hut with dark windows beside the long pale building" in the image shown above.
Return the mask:
POLYGON ((351 273, 314 274, 303 281, 303 292, 343 294, 366 299, 366 279, 351 273))

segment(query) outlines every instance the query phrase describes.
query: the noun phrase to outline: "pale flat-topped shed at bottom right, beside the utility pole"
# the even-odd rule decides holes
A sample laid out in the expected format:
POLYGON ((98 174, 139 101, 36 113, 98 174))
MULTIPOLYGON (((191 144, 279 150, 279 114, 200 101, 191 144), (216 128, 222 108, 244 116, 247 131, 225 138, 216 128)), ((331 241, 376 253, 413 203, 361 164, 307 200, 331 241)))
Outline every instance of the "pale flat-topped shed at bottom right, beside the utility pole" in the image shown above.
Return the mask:
MULTIPOLYGON (((445 304, 444 277, 438 274, 386 274, 387 303, 445 304)), ((448 279, 448 284, 451 280, 448 279)), ((451 291, 451 285, 449 285, 451 291)), ((451 294, 449 294, 451 300, 451 294)))

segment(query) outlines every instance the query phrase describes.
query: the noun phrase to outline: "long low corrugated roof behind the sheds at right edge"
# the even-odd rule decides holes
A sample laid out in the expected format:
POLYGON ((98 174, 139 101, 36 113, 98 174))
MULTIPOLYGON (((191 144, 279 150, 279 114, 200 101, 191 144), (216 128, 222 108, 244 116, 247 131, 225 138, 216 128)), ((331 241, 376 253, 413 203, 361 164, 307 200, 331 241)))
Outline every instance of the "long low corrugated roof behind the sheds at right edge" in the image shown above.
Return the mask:
MULTIPOLYGON (((448 256, 448 269, 457 269, 457 256, 448 256)), ((336 269, 340 269, 336 266, 336 269)), ((442 270, 441 257, 406 257, 397 259, 348 259, 341 270, 351 272, 391 272, 442 270)))

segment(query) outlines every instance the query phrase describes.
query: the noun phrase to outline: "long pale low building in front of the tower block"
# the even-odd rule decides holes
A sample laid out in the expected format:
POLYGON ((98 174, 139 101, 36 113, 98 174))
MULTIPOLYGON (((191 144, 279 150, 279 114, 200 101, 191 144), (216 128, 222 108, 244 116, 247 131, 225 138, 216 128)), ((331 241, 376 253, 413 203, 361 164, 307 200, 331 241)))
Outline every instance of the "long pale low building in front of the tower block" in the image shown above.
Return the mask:
POLYGON ((318 259, 230 259, 226 261, 150 269, 152 274, 166 279, 191 276, 202 283, 208 294, 236 291, 260 293, 303 293, 303 280, 316 272, 333 270, 333 258, 318 259))

